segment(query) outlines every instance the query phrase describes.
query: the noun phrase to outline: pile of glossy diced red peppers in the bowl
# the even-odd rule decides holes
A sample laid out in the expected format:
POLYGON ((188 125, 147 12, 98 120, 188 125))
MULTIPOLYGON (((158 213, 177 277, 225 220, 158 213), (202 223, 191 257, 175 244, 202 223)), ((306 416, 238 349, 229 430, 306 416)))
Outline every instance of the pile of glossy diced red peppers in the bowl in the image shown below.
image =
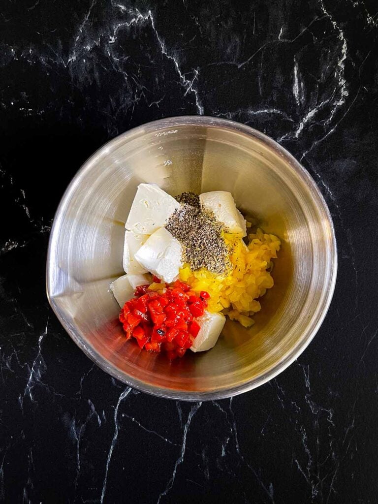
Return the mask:
MULTIPOLYGON (((161 283, 155 276, 153 281, 161 283)), ((202 291, 197 296, 179 280, 165 285, 164 293, 139 285, 136 297, 124 304, 119 321, 126 338, 135 338, 140 348, 164 351, 169 359, 175 359, 182 357, 197 337, 201 326, 194 319, 203 315, 210 295, 202 291)))

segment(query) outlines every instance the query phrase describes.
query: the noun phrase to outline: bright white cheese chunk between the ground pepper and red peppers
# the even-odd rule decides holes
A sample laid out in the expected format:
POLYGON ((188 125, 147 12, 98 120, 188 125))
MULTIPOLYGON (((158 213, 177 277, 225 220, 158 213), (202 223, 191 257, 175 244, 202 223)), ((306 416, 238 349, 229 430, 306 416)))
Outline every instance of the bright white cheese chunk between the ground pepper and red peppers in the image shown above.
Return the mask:
POLYGON ((155 231, 135 255, 136 260, 164 282, 178 278, 182 266, 180 242, 164 227, 155 231))

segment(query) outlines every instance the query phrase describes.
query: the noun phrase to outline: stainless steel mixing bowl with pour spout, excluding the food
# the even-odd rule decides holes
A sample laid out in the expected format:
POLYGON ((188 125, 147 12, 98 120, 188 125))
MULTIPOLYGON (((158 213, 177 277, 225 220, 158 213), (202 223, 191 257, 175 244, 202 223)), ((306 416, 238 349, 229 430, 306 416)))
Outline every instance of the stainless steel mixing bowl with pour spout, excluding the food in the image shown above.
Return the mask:
POLYGON ((116 379, 157 396, 206 400, 254 389, 293 362, 323 322, 336 272, 329 210, 298 161, 237 122, 172 117, 108 142, 76 174, 51 230, 47 295, 75 343, 116 379), (140 182, 171 195, 231 191, 244 214, 281 238, 275 286, 251 330, 227 321, 212 350, 173 362, 124 341, 109 284, 123 274, 124 222, 140 182))

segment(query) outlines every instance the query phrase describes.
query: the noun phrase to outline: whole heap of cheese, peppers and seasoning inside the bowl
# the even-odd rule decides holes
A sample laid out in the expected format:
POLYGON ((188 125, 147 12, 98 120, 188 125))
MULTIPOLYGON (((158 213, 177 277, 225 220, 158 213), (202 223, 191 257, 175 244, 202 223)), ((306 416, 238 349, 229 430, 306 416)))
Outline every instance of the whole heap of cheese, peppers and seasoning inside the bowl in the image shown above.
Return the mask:
POLYGON ((226 317, 254 324, 281 243, 261 229, 247 234, 231 193, 173 198, 141 183, 125 228, 127 274, 110 289, 126 339, 174 359, 213 348, 226 317))

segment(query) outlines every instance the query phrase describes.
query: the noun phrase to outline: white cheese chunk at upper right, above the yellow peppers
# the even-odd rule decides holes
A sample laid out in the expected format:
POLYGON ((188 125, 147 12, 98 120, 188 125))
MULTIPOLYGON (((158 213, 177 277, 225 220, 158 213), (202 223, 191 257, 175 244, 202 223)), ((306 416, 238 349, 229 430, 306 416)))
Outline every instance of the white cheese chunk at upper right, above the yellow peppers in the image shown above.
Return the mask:
POLYGON ((201 208, 211 210, 223 222, 230 233, 246 236, 246 222, 236 208, 232 194, 227 191, 212 191, 200 195, 201 208))

